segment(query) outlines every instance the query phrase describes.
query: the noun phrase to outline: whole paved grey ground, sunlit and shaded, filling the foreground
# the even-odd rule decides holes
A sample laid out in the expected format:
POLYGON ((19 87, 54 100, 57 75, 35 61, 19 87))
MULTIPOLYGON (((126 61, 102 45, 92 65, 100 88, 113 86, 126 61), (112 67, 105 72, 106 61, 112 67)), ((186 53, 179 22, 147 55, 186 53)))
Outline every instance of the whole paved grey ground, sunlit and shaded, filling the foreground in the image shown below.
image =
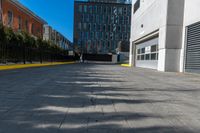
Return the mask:
POLYGON ((0 72, 0 133, 199 132, 199 75, 101 63, 0 72))

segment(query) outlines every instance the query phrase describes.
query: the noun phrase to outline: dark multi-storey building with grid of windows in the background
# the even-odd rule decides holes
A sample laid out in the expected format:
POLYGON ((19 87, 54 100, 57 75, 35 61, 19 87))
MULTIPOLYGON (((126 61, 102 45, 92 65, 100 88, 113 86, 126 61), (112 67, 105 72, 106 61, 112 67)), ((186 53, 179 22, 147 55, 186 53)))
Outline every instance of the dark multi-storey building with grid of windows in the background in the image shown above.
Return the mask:
POLYGON ((75 1, 74 44, 81 52, 115 53, 119 46, 128 51, 131 4, 115 1, 75 1))

